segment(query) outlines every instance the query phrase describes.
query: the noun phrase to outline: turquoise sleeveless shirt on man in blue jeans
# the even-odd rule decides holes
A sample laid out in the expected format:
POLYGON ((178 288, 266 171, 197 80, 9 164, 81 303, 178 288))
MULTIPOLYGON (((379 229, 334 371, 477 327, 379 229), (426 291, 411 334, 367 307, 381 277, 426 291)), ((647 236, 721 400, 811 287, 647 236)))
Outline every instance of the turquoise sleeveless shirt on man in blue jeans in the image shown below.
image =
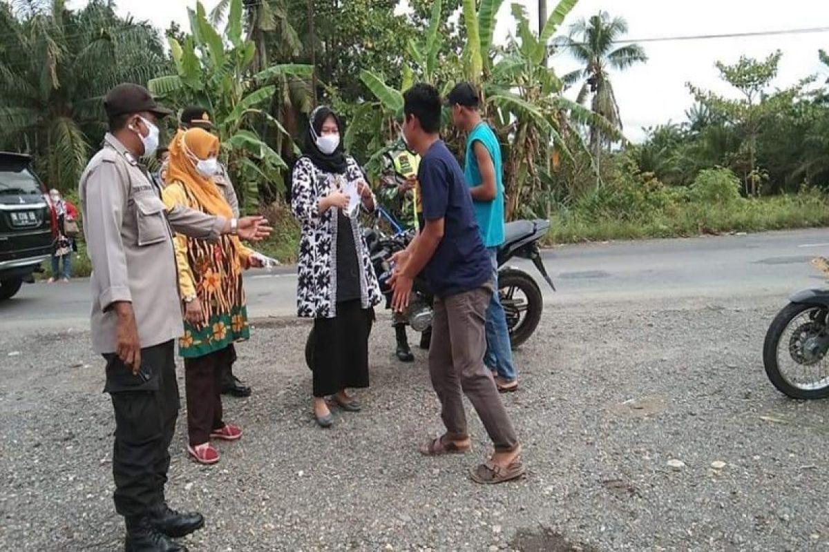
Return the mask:
POLYGON ((475 142, 481 142, 492 157, 495 166, 495 199, 491 201, 473 200, 475 218, 481 228, 481 238, 486 247, 498 247, 504 242, 504 183, 502 180, 501 144, 486 122, 479 122, 469 133, 466 153, 467 184, 470 188, 482 183, 481 170, 478 168, 478 157, 475 156, 475 142))

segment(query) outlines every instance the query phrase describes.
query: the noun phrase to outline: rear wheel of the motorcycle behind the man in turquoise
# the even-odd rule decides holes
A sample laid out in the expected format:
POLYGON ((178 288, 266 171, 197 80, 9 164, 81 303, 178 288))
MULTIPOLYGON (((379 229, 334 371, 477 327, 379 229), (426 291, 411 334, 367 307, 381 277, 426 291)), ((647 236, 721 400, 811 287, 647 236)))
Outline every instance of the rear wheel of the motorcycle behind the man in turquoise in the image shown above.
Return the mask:
POLYGON ((507 315, 511 348, 517 348, 530 338, 541 320, 541 289, 526 272, 507 268, 498 272, 498 294, 507 315))

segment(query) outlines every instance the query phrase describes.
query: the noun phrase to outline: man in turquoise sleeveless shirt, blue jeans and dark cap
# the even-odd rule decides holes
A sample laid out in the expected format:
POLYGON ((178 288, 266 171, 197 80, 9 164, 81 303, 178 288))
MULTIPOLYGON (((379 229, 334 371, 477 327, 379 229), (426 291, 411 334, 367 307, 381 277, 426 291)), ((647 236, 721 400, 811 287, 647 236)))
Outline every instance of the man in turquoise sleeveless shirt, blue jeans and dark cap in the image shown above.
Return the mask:
MULTIPOLYGON (((504 242, 504 185, 502 181, 501 144, 495 132, 478 111, 478 90, 472 84, 458 83, 446 98, 452 121, 467 134, 466 176, 475 208, 475 218, 487 247, 492 274, 498 281, 498 247, 504 242)), ((518 377, 512 363, 507 315, 496 286, 487 307, 487 354, 483 362, 497 377, 498 391, 518 389, 518 377)))

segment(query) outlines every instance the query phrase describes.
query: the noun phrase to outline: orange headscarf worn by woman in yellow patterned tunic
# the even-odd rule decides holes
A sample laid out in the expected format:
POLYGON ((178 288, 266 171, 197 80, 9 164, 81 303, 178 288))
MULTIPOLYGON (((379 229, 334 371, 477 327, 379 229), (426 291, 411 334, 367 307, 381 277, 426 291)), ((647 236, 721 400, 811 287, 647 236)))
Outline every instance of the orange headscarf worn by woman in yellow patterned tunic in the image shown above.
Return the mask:
POLYGON ((225 196, 212 179, 206 179, 196 170, 197 159, 207 159, 211 151, 219 151, 219 138, 201 128, 178 131, 170 142, 170 163, 167 182, 181 182, 196 197, 208 214, 232 218, 233 211, 225 196))

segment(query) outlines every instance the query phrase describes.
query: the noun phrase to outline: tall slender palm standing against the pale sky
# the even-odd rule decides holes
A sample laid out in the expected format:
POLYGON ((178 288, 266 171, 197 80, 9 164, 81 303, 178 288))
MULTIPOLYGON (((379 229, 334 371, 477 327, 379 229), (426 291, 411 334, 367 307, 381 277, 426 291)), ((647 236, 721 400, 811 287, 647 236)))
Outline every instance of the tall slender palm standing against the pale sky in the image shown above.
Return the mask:
MULTIPOLYGON (((610 82, 610 70, 626 70, 631 65, 644 63, 647 55, 642 46, 629 44, 615 48, 619 38, 628 32, 628 22, 622 17, 610 18, 608 12, 579 22, 570 27, 570 36, 558 41, 570 51, 570 55, 579 60, 584 68, 570 74, 568 80, 582 81, 582 87, 576 101, 585 103, 590 98, 594 113, 598 113, 622 130, 622 118, 610 82)), ((596 159, 599 159, 603 146, 609 146, 610 138, 597 126, 590 127, 590 147, 596 159)))

